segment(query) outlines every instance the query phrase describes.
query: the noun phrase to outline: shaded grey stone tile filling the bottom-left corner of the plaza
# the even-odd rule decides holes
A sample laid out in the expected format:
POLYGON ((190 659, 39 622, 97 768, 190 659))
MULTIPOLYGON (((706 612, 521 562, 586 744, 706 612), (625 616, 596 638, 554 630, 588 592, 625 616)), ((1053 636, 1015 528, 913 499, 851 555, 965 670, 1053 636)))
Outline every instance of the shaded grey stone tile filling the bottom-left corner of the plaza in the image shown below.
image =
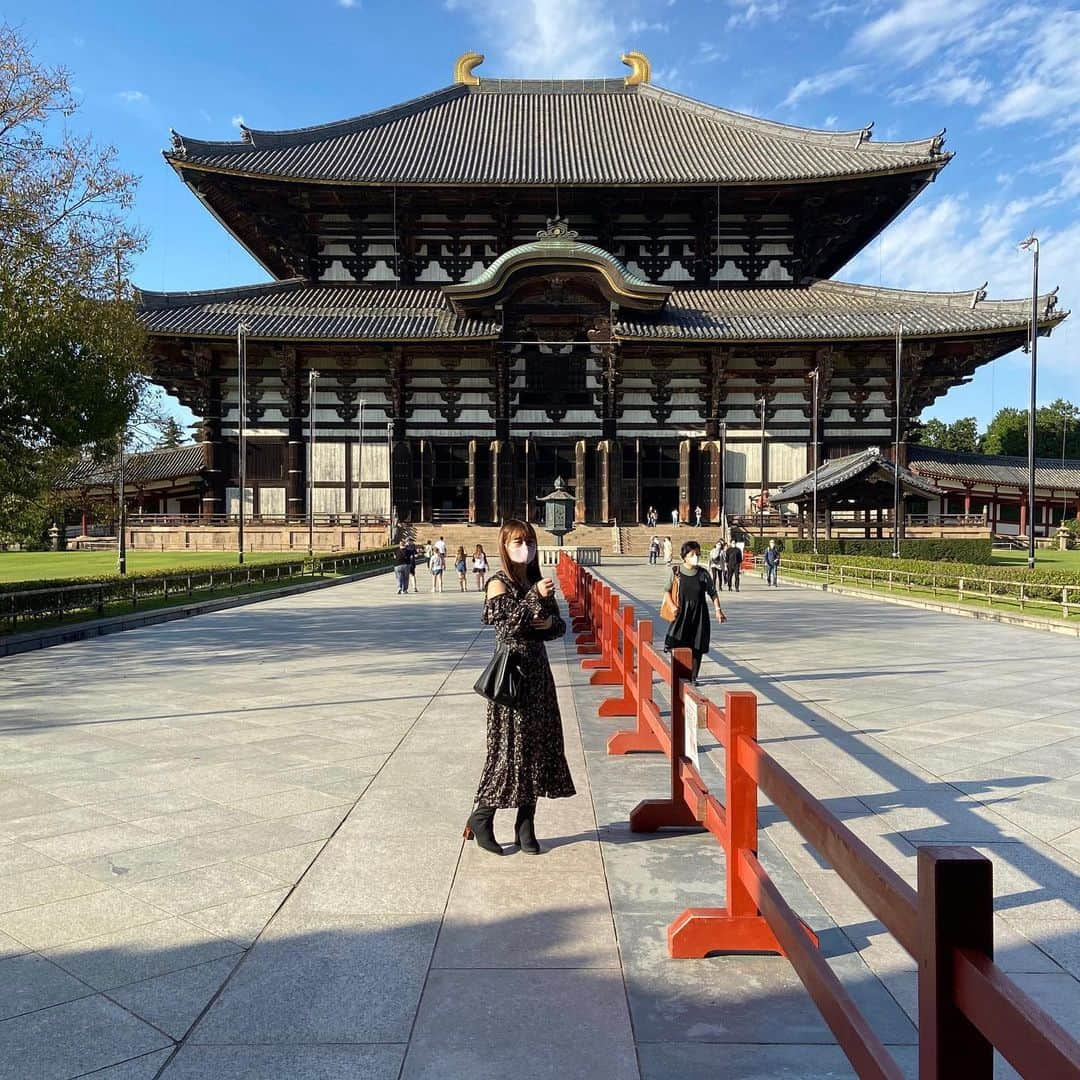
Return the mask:
POLYGON ((100 995, 0 1023, 0 1080, 78 1077, 171 1047, 100 995))

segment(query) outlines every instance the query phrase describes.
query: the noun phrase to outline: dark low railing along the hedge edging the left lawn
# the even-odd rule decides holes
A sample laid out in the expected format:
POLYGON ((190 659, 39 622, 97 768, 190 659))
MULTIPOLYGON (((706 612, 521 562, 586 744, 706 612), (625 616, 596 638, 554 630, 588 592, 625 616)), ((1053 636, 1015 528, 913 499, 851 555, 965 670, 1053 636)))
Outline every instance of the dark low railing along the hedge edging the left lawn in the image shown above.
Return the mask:
POLYGON ((266 584, 294 578, 324 577, 351 570, 389 566, 384 551, 352 555, 260 563, 231 569, 183 570, 156 575, 110 578, 106 581, 58 585, 53 589, 19 589, 0 592, 0 632, 14 634, 39 622, 104 618, 110 605, 137 609, 139 604, 161 599, 183 604, 200 594, 238 585, 266 584))

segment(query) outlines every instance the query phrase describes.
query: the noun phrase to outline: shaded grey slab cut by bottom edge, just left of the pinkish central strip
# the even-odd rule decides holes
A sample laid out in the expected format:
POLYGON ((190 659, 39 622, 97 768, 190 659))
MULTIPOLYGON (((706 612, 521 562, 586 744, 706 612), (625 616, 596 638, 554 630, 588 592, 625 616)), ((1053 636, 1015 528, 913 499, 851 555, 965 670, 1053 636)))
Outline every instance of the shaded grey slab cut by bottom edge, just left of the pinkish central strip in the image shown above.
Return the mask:
POLYGON ((319 1047, 200 1047, 185 1044, 165 1080, 397 1080, 404 1043, 319 1047))

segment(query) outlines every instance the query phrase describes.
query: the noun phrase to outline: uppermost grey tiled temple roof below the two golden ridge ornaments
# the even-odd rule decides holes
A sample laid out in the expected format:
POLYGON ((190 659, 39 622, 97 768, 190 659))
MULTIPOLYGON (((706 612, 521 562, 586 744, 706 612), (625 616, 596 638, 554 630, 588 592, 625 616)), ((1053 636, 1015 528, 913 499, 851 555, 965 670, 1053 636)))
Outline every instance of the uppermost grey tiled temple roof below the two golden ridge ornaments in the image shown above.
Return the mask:
POLYGON ((812 131, 621 79, 485 79, 351 120, 174 133, 176 167, 356 184, 754 184, 936 170, 942 137, 876 143, 812 131))

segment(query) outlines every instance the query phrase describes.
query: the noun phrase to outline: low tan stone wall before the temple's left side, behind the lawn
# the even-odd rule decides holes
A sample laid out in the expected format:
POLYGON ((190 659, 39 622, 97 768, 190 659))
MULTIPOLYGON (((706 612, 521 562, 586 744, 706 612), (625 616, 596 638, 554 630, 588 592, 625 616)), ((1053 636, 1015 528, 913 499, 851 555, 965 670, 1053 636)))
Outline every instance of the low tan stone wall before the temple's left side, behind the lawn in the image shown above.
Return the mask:
MULTIPOLYGON (((316 525, 312 535, 315 551, 365 551, 386 548, 384 525, 316 525)), ((132 551, 235 551, 234 525, 138 525, 129 523, 127 546, 132 551)), ((245 551, 308 550, 308 526, 245 525, 245 551)))

